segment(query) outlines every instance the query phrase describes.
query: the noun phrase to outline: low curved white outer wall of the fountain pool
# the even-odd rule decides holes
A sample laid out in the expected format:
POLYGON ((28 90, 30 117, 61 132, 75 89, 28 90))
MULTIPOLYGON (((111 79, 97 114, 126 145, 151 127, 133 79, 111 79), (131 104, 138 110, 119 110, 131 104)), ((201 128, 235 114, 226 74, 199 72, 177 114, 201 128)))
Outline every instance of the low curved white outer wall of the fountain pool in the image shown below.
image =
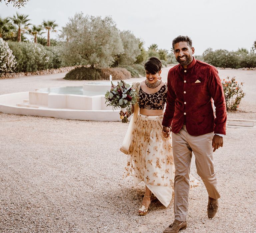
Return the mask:
POLYGON ((76 110, 18 107, 17 103, 28 99, 29 92, 0 95, 0 112, 25 116, 46 116, 61 119, 120 121, 119 110, 76 110))

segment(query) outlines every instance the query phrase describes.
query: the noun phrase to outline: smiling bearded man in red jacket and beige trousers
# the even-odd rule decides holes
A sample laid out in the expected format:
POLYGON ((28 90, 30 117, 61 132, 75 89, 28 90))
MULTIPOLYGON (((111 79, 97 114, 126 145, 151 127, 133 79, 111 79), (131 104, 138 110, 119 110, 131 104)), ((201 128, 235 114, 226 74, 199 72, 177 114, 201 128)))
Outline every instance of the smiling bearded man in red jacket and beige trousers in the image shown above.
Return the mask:
POLYGON ((208 217, 215 216, 220 194, 217 191, 213 152, 223 146, 227 120, 224 92, 217 69, 193 57, 195 49, 188 36, 176 37, 172 47, 179 65, 168 73, 167 106, 162 125, 166 137, 172 131, 175 220, 164 233, 178 232, 187 227, 192 151, 197 174, 209 195, 208 217))

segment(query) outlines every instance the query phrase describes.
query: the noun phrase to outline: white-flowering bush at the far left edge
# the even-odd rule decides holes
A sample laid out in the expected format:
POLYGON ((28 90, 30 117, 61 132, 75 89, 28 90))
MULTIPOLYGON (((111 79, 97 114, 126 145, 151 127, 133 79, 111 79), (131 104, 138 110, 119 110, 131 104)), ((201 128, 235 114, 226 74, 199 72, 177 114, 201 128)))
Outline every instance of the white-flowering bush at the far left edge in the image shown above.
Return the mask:
POLYGON ((0 38, 0 75, 7 72, 13 72, 16 63, 15 57, 7 42, 0 38))

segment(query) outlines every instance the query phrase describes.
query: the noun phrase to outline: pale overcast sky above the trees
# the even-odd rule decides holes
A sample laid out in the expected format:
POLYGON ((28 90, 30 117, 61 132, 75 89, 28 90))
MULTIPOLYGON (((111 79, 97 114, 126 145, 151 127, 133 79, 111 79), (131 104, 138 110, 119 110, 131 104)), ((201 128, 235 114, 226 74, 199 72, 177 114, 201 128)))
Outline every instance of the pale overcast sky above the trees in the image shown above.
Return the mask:
MULTIPOLYGON (((30 0, 17 9, 0 3, 0 16, 28 14, 32 24, 56 20, 61 29, 76 12, 111 16, 120 30, 170 49, 172 39, 188 35, 195 54, 205 49, 250 50, 256 40, 256 0, 30 0)), ((52 35, 55 37, 54 35, 52 35)))

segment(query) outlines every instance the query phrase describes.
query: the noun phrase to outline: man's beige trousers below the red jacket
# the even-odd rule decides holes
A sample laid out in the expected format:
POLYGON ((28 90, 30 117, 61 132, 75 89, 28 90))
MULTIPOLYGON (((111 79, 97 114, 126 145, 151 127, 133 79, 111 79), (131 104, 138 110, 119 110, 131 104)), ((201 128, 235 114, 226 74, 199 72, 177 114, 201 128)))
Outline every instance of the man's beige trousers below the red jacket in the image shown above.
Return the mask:
MULTIPOLYGON (((192 151, 195 155, 197 174, 201 177, 212 198, 219 198, 217 177, 214 171, 212 138, 213 132, 192 136, 183 125, 178 133, 172 132, 174 178, 174 215, 178 221, 186 221, 188 214, 189 172, 192 151)), ((207 203, 206 203, 207 204, 207 203)))

